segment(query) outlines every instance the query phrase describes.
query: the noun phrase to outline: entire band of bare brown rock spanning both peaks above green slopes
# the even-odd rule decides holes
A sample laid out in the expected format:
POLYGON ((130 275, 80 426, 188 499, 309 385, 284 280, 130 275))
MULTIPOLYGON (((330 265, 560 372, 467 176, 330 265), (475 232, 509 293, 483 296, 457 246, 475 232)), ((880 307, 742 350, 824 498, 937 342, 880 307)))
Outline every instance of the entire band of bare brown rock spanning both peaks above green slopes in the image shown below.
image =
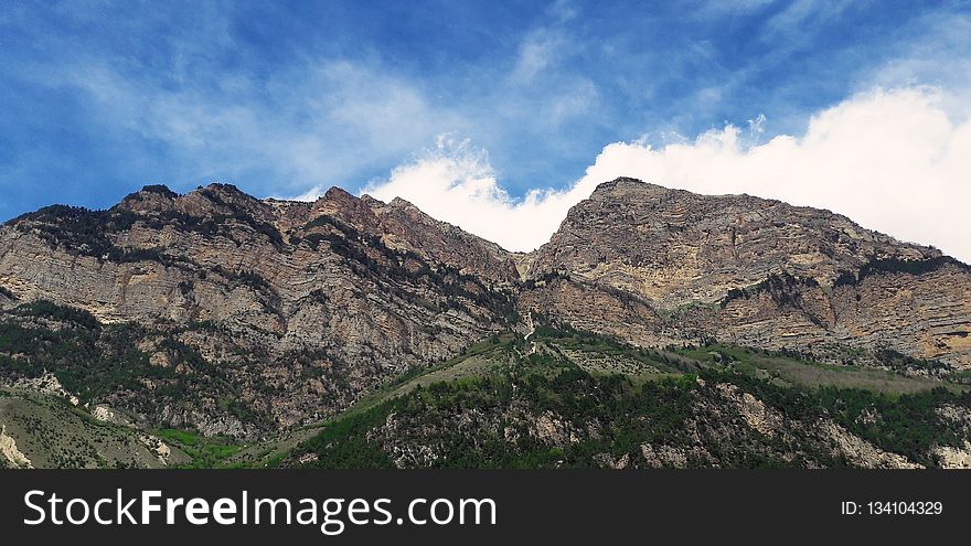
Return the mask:
POLYGON ((256 438, 525 331, 524 317, 640 345, 719 340, 968 368, 969 295, 968 266, 843 216, 631 179, 601 184, 526 255, 337 188, 301 203, 147 186, 107 211, 55 205, 0 226, 0 326, 34 343, 0 346, 0 384, 50 365, 85 404, 256 438), (30 307, 43 301, 93 319, 30 307), (68 353, 47 331, 97 355, 97 388, 78 375, 95 373, 87 361, 57 368, 68 353))

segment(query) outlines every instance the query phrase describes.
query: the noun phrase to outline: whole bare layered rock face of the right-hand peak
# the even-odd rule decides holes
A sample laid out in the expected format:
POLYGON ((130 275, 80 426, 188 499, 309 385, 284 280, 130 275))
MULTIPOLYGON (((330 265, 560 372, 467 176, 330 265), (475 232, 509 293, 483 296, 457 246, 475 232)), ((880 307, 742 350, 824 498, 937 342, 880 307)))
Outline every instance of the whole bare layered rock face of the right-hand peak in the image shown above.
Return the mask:
POLYGON ((971 269, 829 211, 617 179, 569 211, 526 277, 529 309, 640 344, 971 367, 971 269))

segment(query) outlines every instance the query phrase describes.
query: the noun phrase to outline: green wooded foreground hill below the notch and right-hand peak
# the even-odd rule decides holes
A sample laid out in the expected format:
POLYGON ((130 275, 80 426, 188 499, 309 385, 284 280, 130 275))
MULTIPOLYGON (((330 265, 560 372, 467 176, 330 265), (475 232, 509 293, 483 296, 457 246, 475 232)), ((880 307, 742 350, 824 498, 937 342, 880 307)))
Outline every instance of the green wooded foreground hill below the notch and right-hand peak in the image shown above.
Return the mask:
MULTIPOLYGON (((942 418, 938 408, 971 408, 971 394, 959 385, 884 370, 723 345, 644 350, 547 322, 537 325, 530 340, 493 336, 416 374, 365 397, 290 456, 277 452, 270 464, 588 467, 604 457, 638 458, 644 445, 687 453, 701 446, 704 457, 716 457, 728 467, 849 464, 813 436, 815 424, 825 419, 877 448, 932 467, 935 447, 960 446, 967 438, 967 431, 942 418), (585 360, 590 355, 602 361, 585 360), (616 366, 610 362, 618 360, 639 362, 654 372, 612 373, 616 366), (726 406, 714 387, 726 384, 778 411, 789 439, 733 425, 740 421, 735 414, 739 409, 726 406), (537 436, 533 427, 540 416, 554 416, 551 422, 558 425, 551 426, 569 429, 575 438, 537 436), (698 427, 714 427, 704 432, 713 438, 703 436, 698 445, 698 427), (417 456, 408 453, 418 446, 438 454, 416 462, 409 457, 417 456)), ((711 465, 709 459, 698 457, 689 454, 682 464, 711 465)))

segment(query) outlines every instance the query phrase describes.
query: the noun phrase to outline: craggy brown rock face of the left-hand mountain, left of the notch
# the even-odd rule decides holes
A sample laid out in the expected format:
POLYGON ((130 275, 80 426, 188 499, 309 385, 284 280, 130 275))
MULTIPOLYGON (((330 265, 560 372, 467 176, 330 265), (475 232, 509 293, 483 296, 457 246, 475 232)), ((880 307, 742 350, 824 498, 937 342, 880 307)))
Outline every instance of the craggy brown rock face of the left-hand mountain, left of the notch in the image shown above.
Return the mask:
POLYGON ((498 246, 339 189, 297 203, 223 184, 181 196, 149 186, 108 211, 52 206, 0 227, 0 304, 50 300, 148 325, 138 346, 152 365, 202 374, 174 340, 231 370, 228 400, 200 393, 146 409, 206 433, 318 419, 452 356, 506 326, 516 278, 498 246), (235 400, 260 418, 226 411, 235 400))

